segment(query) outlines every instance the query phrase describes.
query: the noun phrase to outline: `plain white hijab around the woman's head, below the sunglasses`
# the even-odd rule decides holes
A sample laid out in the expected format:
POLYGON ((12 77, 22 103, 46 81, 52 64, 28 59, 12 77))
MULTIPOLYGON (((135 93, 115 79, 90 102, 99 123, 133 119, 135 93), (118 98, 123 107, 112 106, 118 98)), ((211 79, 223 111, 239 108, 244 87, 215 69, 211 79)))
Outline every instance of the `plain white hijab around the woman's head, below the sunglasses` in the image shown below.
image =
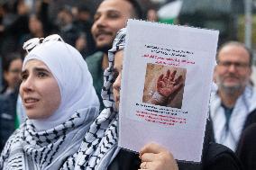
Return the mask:
POLYGON ((65 42, 50 40, 29 52, 23 61, 23 68, 31 59, 39 59, 50 68, 58 82, 61 95, 59 109, 49 118, 31 120, 37 130, 53 128, 67 121, 80 109, 99 106, 87 63, 77 49, 65 42))

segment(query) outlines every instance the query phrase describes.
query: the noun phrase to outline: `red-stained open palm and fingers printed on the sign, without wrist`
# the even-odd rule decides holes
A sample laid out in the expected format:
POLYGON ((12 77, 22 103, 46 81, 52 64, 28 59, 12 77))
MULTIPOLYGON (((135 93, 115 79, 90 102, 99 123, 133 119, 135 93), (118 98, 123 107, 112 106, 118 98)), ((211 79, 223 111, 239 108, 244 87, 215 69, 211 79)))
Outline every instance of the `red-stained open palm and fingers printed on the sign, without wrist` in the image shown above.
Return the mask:
POLYGON ((178 91, 179 87, 183 85, 183 77, 176 77, 177 71, 174 70, 170 73, 169 69, 166 75, 161 74, 157 81, 157 91, 159 94, 164 97, 169 98, 171 94, 174 94, 178 91))

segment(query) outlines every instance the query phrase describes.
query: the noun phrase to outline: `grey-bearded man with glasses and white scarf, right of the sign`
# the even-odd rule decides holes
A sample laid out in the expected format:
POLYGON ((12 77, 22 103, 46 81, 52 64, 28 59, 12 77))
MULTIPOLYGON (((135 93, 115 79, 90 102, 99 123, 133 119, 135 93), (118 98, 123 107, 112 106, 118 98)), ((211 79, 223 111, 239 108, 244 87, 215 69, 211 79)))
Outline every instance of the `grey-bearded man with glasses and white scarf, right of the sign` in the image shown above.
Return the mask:
POLYGON ((242 130, 256 121, 256 94, 251 84, 252 54, 242 43, 225 43, 217 53, 210 116, 215 142, 236 150, 242 130))

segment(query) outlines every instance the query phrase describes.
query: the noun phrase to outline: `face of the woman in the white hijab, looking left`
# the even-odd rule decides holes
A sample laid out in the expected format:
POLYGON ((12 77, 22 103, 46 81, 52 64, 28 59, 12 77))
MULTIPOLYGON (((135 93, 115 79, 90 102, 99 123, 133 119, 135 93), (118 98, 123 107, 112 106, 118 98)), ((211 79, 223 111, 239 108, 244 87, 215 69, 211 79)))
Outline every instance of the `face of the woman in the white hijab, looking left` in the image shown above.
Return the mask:
POLYGON ((59 85, 50 69, 40 60, 29 60, 22 72, 20 94, 30 119, 49 118, 59 107, 59 85))

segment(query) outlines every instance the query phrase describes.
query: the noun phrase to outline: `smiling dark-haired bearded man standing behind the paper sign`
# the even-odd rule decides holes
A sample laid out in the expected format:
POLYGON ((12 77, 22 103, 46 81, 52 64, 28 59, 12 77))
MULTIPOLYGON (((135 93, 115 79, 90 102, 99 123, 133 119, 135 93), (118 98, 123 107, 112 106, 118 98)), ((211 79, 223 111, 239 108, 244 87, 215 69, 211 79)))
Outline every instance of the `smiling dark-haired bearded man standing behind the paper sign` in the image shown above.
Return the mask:
POLYGON ((104 70, 108 67, 107 52, 112 47, 117 31, 125 27, 130 18, 142 18, 142 9, 136 0, 105 0, 96 9, 91 32, 98 51, 88 56, 86 61, 101 102, 100 110, 104 108, 101 89, 104 70))

